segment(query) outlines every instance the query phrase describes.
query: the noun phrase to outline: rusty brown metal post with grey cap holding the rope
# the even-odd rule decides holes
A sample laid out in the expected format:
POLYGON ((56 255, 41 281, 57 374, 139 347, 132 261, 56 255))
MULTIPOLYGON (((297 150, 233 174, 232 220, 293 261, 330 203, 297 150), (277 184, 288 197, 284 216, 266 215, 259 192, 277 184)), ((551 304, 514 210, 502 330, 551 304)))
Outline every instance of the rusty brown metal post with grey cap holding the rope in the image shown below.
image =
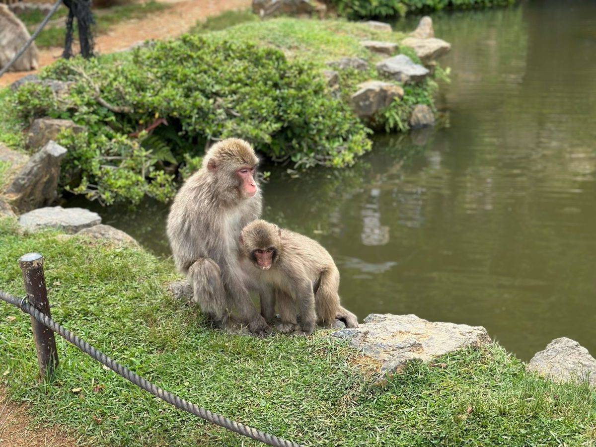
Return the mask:
MULTIPOLYGON (((44 315, 50 316, 48 290, 45 287, 44 257, 39 253, 27 253, 18 258, 18 265, 23 271, 25 291, 29 303, 44 315)), ((33 340, 38 355, 39 374, 45 377, 52 374, 58 366, 58 353, 54 333, 31 316, 33 340)))

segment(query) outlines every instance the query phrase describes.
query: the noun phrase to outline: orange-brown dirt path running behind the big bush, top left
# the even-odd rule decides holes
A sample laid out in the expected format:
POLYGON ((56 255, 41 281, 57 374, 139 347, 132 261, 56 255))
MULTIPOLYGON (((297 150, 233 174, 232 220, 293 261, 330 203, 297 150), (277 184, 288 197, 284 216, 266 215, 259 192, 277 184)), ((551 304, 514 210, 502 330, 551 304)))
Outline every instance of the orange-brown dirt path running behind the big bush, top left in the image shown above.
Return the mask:
MULTIPOLYGON (((185 33, 197 20, 225 10, 250 8, 250 0, 159 0, 172 3, 172 7, 114 25, 106 34, 95 37, 95 49, 109 53, 127 48, 147 39, 164 39, 185 33)), ((44 67, 60 57, 62 48, 46 48, 39 52, 39 65, 44 67)), ((0 77, 0 87, 9 85, 23 76, 36 72, 11 72, 0 77)))

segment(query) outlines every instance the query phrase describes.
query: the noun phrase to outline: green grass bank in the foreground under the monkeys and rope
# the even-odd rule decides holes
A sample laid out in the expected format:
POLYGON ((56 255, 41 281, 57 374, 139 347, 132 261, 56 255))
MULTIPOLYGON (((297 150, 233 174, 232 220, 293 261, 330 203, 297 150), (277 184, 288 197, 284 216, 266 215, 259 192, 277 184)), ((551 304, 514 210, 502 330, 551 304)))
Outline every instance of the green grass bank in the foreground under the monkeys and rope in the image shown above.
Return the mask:
MULTIPOLYGON (((52 316, 158 386, 306 446, 594 445, 596 395, 526 373, 498 346, 411 364, 372 386, 357 354, 325 331, 255 339, 204 325, 167 296, 170 260, 94 246, 0 220, 0 288, 23 294, 17 259, 45 256, 52 316), (443 366, 443 365, 441 365, 443 366)), ((256 446, 104 370, 58 339, 60 367, 38 383, 29 316, 0 303, 0 383, 32 423, 63 424, 81 445, 256 446), (15 318, 9 318, 15 317, 15 318), (79 391, 80 389, 80 391, 79 391)))

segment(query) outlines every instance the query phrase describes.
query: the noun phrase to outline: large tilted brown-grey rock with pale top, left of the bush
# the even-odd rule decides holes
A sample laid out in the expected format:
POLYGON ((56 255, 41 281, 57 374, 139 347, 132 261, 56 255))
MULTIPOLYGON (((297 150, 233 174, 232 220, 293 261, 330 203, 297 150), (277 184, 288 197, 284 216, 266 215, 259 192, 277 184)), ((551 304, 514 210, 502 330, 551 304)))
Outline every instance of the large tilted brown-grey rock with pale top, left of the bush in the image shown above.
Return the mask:
POLYGON ((66 152, 61 145, 50 141, 33 154, 5 191, 5 197, 15 209, 26 212, 55 200, 60 162, 66 152))

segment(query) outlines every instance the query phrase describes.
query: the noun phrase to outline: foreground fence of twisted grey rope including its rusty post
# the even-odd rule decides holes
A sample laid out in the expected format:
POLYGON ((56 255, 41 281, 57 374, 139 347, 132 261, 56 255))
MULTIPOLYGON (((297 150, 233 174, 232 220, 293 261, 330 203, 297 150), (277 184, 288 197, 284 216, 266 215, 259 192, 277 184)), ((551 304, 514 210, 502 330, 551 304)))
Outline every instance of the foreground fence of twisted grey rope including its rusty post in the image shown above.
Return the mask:
MULTIPOLYGON (((35 255, 35 253, 33 255, 35 255)), ((28 284, 31 285, 31 284, 35 283, 35 278, 33 278, 33 281, 32 281, 28 277, 28 274, 30 271, 37 270, 36 272, 34 272, 34 274, 35 273, 39 274, 39 270, 41 270, 41 275, 43 275, 43 270, 42 270, 43 257, 41 257, 41 255, 39 255, 39 254, 37 256, 39 256, 39 257, 35 258, 35 256, 32 256, 32 254, 30 253, 30 254, 24 255, 19 260, 21 268, 23 269, 23 277, 25 280, 26 288, 27 288, 28 284), (33 259, 33 258, 35 258, 35 259, 33 259), (21 261, 23 259, 26 259, 26 261, 21 261), (30 263, 30 262, 32 262, 32 260, 33 260, 33 262, 36 262, 35 265, 32 265, 30 263), (26 265, 26 262, 29 262, 29 264, 26 265)), ((45 281, 43 280, 43 277, 41 278, 41 280, 42 280, 42 282, 39 284, 42 284, 42 287, 35 287, 35 288, 43 289, 42 293, 45 294, 46 293, 45 281)), ((123 367, 118 362, 114 361, 113 359, 111 359, 110 357, 105 355, 103 352, 101 352, 100 350, 98 350, 97 348, 92 346, 91 344, 87 343, 85 340, 83 340, 80 337, 76 336, 75 334, 71 333, 68 329, 64 328, 62 325, 55 322, 49 315, 46 315, 44 312, 40 312, 36 308, 36 307, 38 307, 38 306, 36 306, 38 303, 35 303, 33 301, 33 298, 34 297, 30 293, 28 293, 26 297, 20 298, 17 296, 10 295, 3 290, 0 290, 0 299, 4 300, 5 302, 7 302, 13 306, 16 306, 17 308, 20 308, 25 313, 29 313, 29 315, 31 315, 31 317, 32 317, 32 322, 35 319, 36 322, 39 322, 45 328, 48 328, 49 330, 53 331, 54 333, 59 334, 61 337, 63 337, 63 339, 74 344, 80 350, 82 350, 83 352, 87 353, 88 355, 90 355, 92 358, 94 358, 98 362, 101 362, 102 364, 104 364, 105 366, 110 368, 110 370, 121 375, 126 380, 131 381, 136 386, 141 387, 145 391, 150 392, 154 396, 157 396, 158 398, 162 399, 163 401, 166 401, 167 403, 171 403, 172 405, 177 406, 178 408, 183 409, 184 411, 194 414, 200 418, 203 418, 206 421, 217 424, 218 426, 224 427, 225 429, 231 430, 232 432, 241 434, 246 437, 250 437, 251 439, 256 439, 257 441, 263 442, 267 445, 271 445, 271 446, 275 446, 275 447, 303 447, 300 444, 297 444, 295 442, 291 442, 291 441, 285 440, 281 437, 277 437, 272 434, 268 434, 268 433, 262 432, 260 430, 253 429, 252 427, 246 426, 246 425, 241 424, 237 421, 232 421, 231 419, 228 419, 220 414, 214 413, 214 412, 209 411, 205 408, 197 406, 194 403, 188 402, 185 399, 179 398, 178 396, 173 395, 172 393, 161 389, 160 387, 156 386, 155 384, 151 383, 150 381, 146 380, 145 378, 141 377, 140 375, 133 373, 128 368, 123 367), (32 300, 33 304, 29 303, 29 299, 32 300)), ((35 297, 35 298, 38 299, 39 297, 35 297)), ((49 306, 48 306, 47 313, 49 313, 49 306)), ((50 335, 51 335, 51 339, 53 342, 54 336, 53 336, 53 334, 50 334, 50 335)), ((52 365, 54 365, 54 367, 57 367, 57 358, 55 360, 52 359, 51 352, 49 352, 51 350, 48 350, 48 352, 49 352, 48 356, 46 356, 46 357, 40 356, 41 355, 40 351, 43 350, 44 348, 47 348, 48 343, 40 342, 38 344, 38 338, 35 334, 35 330, 34 330, 34 337, 35 337, 35 341, 36 341, 36 350, 38 352, 38 361, 40 361, 40 367, 42 367, 42 364, 43 364, 44 367, 48 368, 48 371, 51 370, 52 365)), ((54 346, 55 346, 55 343, 54 343, 54 346)), ((55 347, 54 347, 54 352, 55 352, 55 347)), ((55 353, 54 353, 54 355, 55 355, 55 353)), ((41 371, 42 371, 42 375, 44 375, 45 369, 41 369, 41 371)))

